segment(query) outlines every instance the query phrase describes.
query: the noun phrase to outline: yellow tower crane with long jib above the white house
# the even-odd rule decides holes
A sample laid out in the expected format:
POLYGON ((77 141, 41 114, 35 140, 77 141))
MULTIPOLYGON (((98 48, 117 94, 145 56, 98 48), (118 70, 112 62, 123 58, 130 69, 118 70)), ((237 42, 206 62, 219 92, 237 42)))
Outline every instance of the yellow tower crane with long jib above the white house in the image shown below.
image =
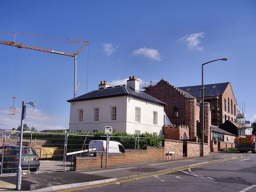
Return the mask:
POLYGON ((76 91, 77 91, 77 86, 76 86, 77 56, 79 55, 81 50, 84 47, 86 47, 86 45, 89 45, 89 41, 58 38, 58 37, 46 37, 46 36, 41 36, 41 35, 31 35, 31 34, 24 34, 24 33, 2 33, 2 34, 14 34, 14 40, 13 41, 0 40, 0 44, 3 44, 3 45, 14 46, 14 47, 17 47, 17 48, 32 49, 32 50, 36 50, 36 51, 43 51, 43 52, 48 52, 48 53, 55 53, 55 54, 59 54, 59 55, 66 55, 66 56, 74 57, 74 61, 75 61, 74 62, 74 98, 76 97, 76 91), (42 47, 30 46, 30 45, 21 44, 19 42, 15 42, 16 34, 30 35, 30 36, 36 36, 36 37, 45 37, 45 38, 65 39, 65 40, 69 40, 69 43, 78 43, 79 42, 79 43, 83 43, 84 45, 76 53, 66 53, 66 52, 51 50, 51 49, 42 48, 42 47))

